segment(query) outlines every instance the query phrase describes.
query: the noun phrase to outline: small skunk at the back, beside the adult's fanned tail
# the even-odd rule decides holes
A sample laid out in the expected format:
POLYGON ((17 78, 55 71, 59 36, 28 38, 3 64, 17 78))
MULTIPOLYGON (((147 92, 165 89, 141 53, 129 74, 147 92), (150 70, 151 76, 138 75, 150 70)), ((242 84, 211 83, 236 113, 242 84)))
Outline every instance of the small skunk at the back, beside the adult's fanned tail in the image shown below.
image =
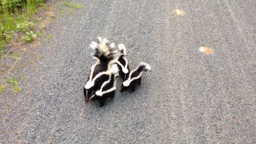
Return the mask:
POLYGON ((118 68, 121 69, 119 70, 119 75, 124 80, 126 80, 129 76, 130 68, 129 68, 127 59, 124 58, 124 55, 126 55, 126 49, 123 44, 118 44, 118 53, 119 53, 119 58, 115 60, 115 62, 117 63, 118 68))

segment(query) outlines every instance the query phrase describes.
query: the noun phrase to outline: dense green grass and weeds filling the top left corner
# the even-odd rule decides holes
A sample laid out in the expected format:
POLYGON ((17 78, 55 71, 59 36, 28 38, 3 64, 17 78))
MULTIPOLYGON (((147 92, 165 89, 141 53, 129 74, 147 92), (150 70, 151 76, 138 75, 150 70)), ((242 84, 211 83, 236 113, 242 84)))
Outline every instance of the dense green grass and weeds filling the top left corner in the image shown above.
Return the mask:
POLYGON ((41 5, 44 0, 0 0, 0 53, 5 52, 12 30, 25 33, 27 28, 34 27, 34 22, 27 21, 41 5))

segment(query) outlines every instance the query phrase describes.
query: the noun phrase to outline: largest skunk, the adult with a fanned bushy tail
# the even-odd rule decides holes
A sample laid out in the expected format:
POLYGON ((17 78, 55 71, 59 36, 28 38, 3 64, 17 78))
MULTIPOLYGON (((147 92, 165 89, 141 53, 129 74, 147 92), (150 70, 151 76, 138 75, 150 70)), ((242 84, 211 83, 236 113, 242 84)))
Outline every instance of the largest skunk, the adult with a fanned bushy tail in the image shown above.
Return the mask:
POLYGON ((98 37, 97 42, 92 42, 90 47, 95 50, 94 58, 98 61, 92 66, 87 83, 84 86, 85 102, 89 101, 92 91, 97 91, 103 82, 109 79, 109 69, 115 58, 114 43, 106 38, 98 37))

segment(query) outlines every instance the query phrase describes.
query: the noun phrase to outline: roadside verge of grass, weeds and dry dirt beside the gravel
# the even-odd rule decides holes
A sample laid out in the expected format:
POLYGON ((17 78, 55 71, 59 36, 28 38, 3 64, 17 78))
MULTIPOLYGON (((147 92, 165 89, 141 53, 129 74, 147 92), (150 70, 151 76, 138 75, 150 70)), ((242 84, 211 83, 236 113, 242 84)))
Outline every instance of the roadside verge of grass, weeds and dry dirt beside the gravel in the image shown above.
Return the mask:
POLYGON ((0 0, 0 95, 21 91, 30 93, 28 87, 21 86, 23 79, 26 79, 22 69, 44 59, 45 55, 37 51, 37 47, 58 37, 51 31, 54 26, 60 25, 56 20, 82 7, 75 1, 4 1, 0 0), (18 5, 9 6, 10 10, 4 11, 4 1, 17 2, 18 5))

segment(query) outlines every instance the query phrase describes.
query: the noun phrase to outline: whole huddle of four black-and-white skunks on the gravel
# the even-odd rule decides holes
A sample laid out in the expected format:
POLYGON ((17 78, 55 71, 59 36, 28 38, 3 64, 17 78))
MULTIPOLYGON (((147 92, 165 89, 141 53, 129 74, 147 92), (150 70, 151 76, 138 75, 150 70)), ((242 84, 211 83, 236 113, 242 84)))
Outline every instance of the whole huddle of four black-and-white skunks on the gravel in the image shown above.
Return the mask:
POLYGON ((90 47, 95 51, 94 58, 97 62, 91 67, 90 75, 84 86, 85 102, 98 100, 100 107, 110 97, 114 98, 116 91, 116 76, 121 76, 123 84, 120 92, 131 89, 141 83, 141 74, 148 71, 150 66, 141 62, 139 66, 130 70, 123 44, 118 44, 118 51, 114 50, 115 44, 110 43, 106 38, 98 37, 97 42, 92 42, 90 47))

